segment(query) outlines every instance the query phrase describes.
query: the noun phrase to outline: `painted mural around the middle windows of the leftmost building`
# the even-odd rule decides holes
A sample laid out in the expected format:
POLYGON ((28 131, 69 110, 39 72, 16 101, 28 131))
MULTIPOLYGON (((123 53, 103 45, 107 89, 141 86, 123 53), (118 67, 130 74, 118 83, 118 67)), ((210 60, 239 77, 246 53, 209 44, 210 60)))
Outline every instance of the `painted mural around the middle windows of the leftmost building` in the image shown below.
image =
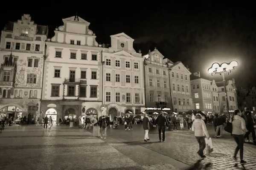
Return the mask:
POLYGON ((17 73, 15 80, 15 87, 31 87, 31 88, 41 88, 41 75, 43 67, 43 57, 30 57, 34 60, 39 59, 38 67, 28 67, 28 61, 25 59, 19 59, 17 62, 17 73), (27 83, 28 74, 36 75, 36 83, 27 83))

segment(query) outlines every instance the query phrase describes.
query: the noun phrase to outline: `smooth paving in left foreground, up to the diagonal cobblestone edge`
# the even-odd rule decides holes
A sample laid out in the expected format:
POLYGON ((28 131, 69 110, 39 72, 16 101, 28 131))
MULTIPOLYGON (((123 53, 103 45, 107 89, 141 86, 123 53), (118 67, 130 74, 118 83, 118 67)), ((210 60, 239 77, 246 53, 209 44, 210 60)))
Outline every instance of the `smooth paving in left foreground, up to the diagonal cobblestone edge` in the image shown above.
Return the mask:
POLYGON ((189 167, 140 143, 129 143, 115 136, 107 136, 106 140, 92 137, 90 131, 78 127, 52 126, 47 130, 35 125, 6 127, 0 133, 0 170, 180 170, 189 167))

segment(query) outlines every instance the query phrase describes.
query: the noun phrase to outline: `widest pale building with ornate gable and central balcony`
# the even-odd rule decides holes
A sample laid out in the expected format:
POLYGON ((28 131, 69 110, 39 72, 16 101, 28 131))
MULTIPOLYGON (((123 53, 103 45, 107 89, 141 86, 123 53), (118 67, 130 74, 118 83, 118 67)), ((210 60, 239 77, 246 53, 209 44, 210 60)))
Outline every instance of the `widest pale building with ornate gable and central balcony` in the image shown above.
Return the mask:
POLYGON ((102 48, 90 23, 78 16, 62 20, 46 42, 41 117, 76 119, 101 114, 102 48), (48 117, 49 117, 48 116, 48 117))

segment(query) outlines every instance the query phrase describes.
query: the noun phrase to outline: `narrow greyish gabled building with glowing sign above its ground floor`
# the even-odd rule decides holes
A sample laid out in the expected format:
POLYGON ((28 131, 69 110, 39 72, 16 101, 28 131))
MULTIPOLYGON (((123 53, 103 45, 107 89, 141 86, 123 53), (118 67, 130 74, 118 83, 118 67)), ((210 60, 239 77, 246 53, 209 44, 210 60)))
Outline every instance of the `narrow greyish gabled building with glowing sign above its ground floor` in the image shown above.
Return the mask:
POLYGON ((144 58, 145 107, 147 113, 160 112, 164 109, 172 113, 169 68, 164 56, 156 48, 149 51, 144 58))

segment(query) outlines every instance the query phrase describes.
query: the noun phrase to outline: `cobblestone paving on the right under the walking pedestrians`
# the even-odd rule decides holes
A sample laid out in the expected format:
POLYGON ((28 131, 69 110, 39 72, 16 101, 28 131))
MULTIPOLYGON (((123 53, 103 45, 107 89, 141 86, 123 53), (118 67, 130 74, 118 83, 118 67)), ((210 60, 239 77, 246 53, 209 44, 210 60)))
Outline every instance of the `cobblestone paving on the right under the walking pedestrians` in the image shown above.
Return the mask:
MULTIPOLYGON (((236 166, 231 158, 236 148, 236 143, 229 133, 224 132, 222 139, 215 139, 214 130, 208 127, 209 135, 212 137, 214 152, 207 156, 202 162, 204 164, 211 162, 210 170, 233 170, 246 169, 256 170, 256 146, 251 144, 244 144, 244 160, 247 164, 242 167, 240 164, 236 166)), ((109 128, 107 131, 107 139, 114 138, 119 141, 131 145, 140 145, 147 149, 154 150, 160 154, 166 155, 184 164, 192 165, 197 160, 196 152, 198 151, 198 143, 194 137, 194 132, 187 130, 166 131, 166 142, 158 143, 158 134, 149 133, 150 142, 144 142, 144 131, 142 125, 135 125, 133 130, 124 130, 124 127, 119 129, 109 128)), ((239 160, 238 154, 238 160, 239 160)))

